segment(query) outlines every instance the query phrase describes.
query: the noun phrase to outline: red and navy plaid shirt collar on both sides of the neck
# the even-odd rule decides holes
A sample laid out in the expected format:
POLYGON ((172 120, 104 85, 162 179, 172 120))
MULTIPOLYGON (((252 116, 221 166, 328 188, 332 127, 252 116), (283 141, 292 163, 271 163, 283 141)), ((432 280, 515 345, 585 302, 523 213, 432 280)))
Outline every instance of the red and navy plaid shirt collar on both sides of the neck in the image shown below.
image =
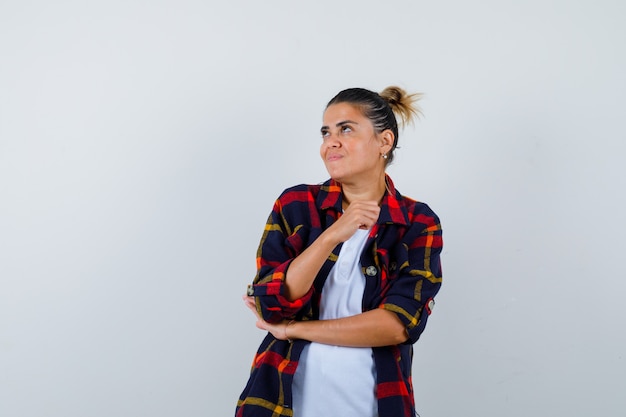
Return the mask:
MULTIPOLYGON (((389 175, 385 174, 385 181, 387 182, 387 190, 385 191, 385 195, 383 196, 383 200, 380 205, 378 223, 396 223, 408 226, 408 213, 405 208, 402 195, 396 190, 389 175)), ((318 196, 318 204, 322 210, 333 209, 337 213, 340 213, 342 211, 341 183, 330 179, 322 184, 320 194, 318 196)))

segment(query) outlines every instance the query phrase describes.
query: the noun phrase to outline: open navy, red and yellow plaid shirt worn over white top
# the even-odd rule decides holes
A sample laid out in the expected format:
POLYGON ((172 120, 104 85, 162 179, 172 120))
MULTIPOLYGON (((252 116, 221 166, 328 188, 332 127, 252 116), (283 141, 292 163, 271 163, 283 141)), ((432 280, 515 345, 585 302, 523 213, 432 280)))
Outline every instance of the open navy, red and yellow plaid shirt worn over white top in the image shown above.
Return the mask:
MULTIPOLYGON (((411 362, 413 346, 424 331, 429 302, 441 286, 441 227, 437 215, 423 203, 403 197, 387 177, 378 223, 361 254, 366 277, 363 310, 384 308, 406 326, 409 340, 397 346, 373 348, 377 371, 379 417, 415 415, 411 362)), ((285 273, 291 261, 341 215, 341 185, 299 185, 276 200, 257 253, 257 275, 248 293, 269 322, 316 320, 324 281, 341 245, 323 265, 313 287, 302 298, 283 297, 285 273)), ((237 403, 236 417, 293 416, 291 383, 303 347, 267 334, 252 363, 250 379, 237 403)), ((297 417, 297 416, 296 416, 297 417)))

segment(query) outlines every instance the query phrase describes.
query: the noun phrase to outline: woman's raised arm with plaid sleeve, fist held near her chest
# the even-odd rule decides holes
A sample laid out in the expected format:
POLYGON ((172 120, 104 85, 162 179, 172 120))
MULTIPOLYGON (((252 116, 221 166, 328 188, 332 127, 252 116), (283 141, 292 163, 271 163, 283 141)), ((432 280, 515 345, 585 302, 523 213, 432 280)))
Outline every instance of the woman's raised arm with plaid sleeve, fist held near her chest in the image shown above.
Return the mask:
MULTIPOLYGON (((307 233, 319 233, 319 229, 300 227, 308 224, 306 216, 319 214, 310 212, 313 199, 302 186, 286 190, 274 203, 265 225, 257 250, 257 274, 247 294, 255 297, 259 314, 270 323, 280 323, 306 308, 313 282, 333 250, 357 229, 372 227, 380 211, 377 203, 352 203, 309 243, 307 233)), ((319 221, 314 218, 312 222, 319 221)))

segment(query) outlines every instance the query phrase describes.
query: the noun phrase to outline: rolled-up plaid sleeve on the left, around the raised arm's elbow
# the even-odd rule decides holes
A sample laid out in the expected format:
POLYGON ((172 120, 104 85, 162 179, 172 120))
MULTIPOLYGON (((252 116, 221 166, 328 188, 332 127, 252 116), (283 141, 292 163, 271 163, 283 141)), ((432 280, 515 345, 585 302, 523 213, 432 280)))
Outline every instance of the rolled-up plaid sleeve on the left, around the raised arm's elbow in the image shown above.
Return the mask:
POLYGON ((279 198, 267 219, 257 251, 257 274, 248 286, 254 296, 257 311, 264 320, 277 323, 293 317, 311 299, 313 289, 303 297, 290 301, 285 298, 285 276, 293 259, 304 249, 302 225, 292 227, 284 215, 279 198))

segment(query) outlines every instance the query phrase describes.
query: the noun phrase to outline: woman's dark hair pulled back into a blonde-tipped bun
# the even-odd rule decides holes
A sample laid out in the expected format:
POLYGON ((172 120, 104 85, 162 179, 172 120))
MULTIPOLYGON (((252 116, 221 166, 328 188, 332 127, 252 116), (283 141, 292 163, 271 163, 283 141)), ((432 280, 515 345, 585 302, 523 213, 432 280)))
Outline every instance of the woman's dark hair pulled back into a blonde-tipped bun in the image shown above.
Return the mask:
POLYGON ((380 94, 365 88, 348 88, 333 97, 326 108, 333 104, 348 103, 358 107, 365 117, 370 119, 376 133, 390 129, 394 135, 393 146, 387 154, 387 165, 393 160, 393 152, 398 145, 398 122, 400 117, 402 126, 412 123, 422 112, 416 102, 421 94, 408 94, 400 87, 385 88, 380 94))

